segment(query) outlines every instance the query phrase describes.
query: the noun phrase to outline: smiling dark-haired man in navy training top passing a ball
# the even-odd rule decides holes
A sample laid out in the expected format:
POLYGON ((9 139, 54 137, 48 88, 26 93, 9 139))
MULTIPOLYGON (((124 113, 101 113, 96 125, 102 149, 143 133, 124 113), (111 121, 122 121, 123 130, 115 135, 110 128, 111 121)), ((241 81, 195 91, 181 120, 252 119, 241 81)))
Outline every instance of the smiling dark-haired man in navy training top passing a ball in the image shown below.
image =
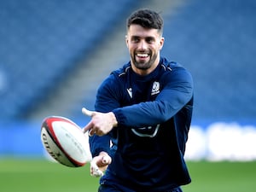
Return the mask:
POLYGON ((92 175, 105 171, 99 191, 182 191, 190 183, 183 159, 193 108, 191 75, 160 57, 163 20, 139 9, 127 20, 131 61, 100 86, 90 135, 92 175), (109 148, 109 143, 113 145, 109 148), (99 170, 98 170, 99 169, 99 170))

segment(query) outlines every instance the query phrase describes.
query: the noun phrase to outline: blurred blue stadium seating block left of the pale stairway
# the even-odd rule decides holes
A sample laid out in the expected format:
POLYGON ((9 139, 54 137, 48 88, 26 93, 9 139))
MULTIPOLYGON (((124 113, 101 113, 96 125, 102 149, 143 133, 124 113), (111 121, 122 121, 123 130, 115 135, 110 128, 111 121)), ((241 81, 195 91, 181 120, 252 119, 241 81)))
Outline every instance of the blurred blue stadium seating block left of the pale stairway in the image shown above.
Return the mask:
POLYGON ((1 1, 1 121, 24 118, 135 3, 1 1))

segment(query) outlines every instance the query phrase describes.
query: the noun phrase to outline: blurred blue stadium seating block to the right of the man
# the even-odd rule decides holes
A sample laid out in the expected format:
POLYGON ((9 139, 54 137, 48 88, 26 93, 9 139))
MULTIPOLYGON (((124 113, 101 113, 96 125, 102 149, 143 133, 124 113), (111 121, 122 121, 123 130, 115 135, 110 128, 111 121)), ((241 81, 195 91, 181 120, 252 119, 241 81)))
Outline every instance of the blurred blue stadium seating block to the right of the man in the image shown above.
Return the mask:
POLYGON ((195 0, 166 18, 162 54, 193 74, 195 121, 254 121, 255 6, 195 0))

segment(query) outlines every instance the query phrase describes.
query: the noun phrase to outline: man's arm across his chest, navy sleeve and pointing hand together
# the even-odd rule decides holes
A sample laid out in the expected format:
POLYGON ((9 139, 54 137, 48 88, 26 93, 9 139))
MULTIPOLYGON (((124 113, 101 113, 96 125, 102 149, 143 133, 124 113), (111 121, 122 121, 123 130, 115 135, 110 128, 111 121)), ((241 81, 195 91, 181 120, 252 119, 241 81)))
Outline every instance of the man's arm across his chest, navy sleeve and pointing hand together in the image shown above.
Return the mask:
MULTIPOLYGON (((86 130, 92 129, 90 133, 102 136, 116 125, 135 128, 157 125, 171 119, 193 96, 193 80, 190 73, 182 67, 171 73, 166 75, 164 81, 166 84, 153 102, 141 102, 123 108, 119 108, 119 104, 111 108, 114 100, 106 100, 108 104, 99 102, 102 108, 108 108, 108 113, 95 112, 90 123, 86 125, 86 130)), ((108 97, 109 95, 103 94, 102 96, 108 97)))

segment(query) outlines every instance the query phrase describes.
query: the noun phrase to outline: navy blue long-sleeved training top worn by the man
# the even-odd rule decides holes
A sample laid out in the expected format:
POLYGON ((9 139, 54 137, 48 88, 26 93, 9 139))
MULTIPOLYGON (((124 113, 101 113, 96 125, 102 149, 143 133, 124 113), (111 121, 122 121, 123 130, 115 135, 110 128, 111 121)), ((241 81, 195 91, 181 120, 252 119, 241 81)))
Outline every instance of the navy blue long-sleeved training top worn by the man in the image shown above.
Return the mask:
POLYGON ((152 192, 190 183, 183 155, 192 108, 192 77, 176 62, 160 58, 146 76, 134 73, 131 62, 111 73, 97 91, 95 109, 113 111, 118 127, 90 137, 92 155, 106 151, 113 160, 101 183, 152 192))

